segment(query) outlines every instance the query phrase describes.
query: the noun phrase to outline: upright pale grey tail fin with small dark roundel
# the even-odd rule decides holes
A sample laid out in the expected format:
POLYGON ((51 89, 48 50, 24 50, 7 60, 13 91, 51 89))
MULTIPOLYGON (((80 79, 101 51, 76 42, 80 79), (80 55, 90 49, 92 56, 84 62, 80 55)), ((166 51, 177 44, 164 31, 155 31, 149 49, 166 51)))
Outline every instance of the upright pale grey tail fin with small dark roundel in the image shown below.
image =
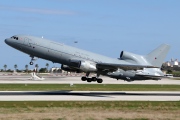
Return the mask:
POLYGON ((169 50, 169 45, 162 44, 158 48, 150 52, 148 55, 146 55, 145 58, 153 66, 161 67, 169 50))

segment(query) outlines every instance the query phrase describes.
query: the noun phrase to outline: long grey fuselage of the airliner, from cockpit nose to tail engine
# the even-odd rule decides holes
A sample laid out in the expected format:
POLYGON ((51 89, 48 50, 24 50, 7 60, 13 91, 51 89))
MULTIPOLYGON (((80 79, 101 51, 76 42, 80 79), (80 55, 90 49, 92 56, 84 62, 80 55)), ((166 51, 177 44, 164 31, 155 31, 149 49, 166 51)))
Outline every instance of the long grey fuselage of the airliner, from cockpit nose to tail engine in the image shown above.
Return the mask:
POLYGON ((106 57, 103 55, 71 47, 63 43, 57 43, 33 36, 15 35, 11 38, 5 39, 5 42, 13 48, 31 56, 36 56, 65 65, 69 65, 70 59, 78 59, 91 63, 131 64, 124 60, 106 57), (14 39, 14 37, 17 39, 14 39))

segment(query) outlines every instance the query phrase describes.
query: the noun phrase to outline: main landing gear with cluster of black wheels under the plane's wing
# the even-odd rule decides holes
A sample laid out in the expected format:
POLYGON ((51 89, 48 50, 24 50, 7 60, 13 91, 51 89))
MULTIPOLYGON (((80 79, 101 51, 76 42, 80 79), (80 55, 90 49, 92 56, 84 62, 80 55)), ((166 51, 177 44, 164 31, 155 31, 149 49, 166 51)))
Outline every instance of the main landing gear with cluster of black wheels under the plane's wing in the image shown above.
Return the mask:
POLYGON ((90 73, 86 73, 86 76, 83 76, 81 78, 81 80, 82 81, 87 81, 87 82, 96 82, 97 81, 97 83, 102 83, 103 82, 103 80, 101 78, 99 78, 99 74, 97 74, 97 77, 92 77, 92 78, 88 77, 89 74, 90 73))

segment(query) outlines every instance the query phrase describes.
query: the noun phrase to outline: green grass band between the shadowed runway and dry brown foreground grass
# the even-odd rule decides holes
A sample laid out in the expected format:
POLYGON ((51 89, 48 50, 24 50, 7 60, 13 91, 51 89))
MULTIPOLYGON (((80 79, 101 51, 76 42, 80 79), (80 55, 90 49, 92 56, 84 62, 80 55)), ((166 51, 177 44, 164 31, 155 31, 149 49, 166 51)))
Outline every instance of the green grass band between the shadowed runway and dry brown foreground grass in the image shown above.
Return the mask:
POLYGON ((180 101, 0 101, 0 108, 28 107, 180 110, 180 101))

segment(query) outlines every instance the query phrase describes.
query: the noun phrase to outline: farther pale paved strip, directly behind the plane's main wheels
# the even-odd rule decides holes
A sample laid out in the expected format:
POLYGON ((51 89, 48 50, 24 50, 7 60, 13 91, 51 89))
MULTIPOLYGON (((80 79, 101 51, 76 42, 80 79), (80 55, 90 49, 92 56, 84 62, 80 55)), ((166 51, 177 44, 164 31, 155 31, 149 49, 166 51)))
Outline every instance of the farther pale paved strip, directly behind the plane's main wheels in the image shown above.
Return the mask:
MULTIPOLYGON (((97 82, 88 83, 86 81, 81 81, 80 76, 43 76, 45 80, 31 80, 30 75, 0 75, 1 83, 11 83, 11 84, 97 84, 97 82)), ((171 80, 168 78, 163 78, 162 80, 146 80, 146 81, 132 81, 127 82, 124 80, 116 80, 109 77, 101 77, 103 79, 103 84, 170 84, 170 85, 180 85, 180 80, 171 80)))

